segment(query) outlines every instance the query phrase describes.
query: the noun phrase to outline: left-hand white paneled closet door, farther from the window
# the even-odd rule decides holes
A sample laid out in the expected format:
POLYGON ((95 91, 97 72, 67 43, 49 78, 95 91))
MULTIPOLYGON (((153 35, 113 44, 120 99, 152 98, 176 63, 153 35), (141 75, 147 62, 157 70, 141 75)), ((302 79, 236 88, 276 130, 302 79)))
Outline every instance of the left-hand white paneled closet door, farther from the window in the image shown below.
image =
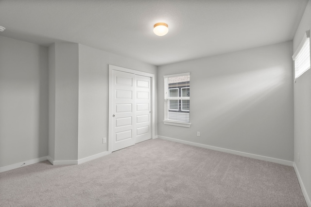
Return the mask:
POLYGON ((135 144, 135 74, 112 73, 112 151, 116 151, 135 144))

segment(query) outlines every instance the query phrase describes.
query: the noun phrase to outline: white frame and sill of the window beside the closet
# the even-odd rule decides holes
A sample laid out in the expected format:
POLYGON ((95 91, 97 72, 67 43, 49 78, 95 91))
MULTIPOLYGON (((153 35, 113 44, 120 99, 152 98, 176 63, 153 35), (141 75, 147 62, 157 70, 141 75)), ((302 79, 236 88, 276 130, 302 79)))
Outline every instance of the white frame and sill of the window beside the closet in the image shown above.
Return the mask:
MULTIPOLYGON (((189 100, 190 101, 190 95, 188 97, 184 97, 182 96, 182 91, 179 91, 178 89, 178 97, 169 97, 170 93, 170 88, 169 88, 169 83, 168 81, 166 81, 165 79, 168 78, 173 78, 173 77, 179 77, 179 76, 189 76, 189 84, 190 84, 190 73, 180 73, 180 74, 173 74, 173 75, 166 75, 164 76, 164 120, 163 123, 165 125, 173 125, 173 126, 178 126, 178 127, 190 127, 191 123, 190 123, 190 106, 189 106, 189 110, 181 110, 182 109, 182 100, 189 100), (181 93, 179 96, 179 92, 181 93), (169 105, 167 106, 167 104, 169 104, 169 100, 177 100, 178 101, 178 110, 171 110, 169 109, 169 105), (179 101, 181 101, 181 106, 179 106, 179 101), (166 119, 168 117, 169 111, 175 111, 175 112, 180 112, 180 113, 189 113, 189 122, 182 122, 182 121, 176 121, 176 120, 170 120, 170 119, 166 119)), ((190 90, 190 86, 189 87, 183 87, 183 88, 189 88, 190 90)))

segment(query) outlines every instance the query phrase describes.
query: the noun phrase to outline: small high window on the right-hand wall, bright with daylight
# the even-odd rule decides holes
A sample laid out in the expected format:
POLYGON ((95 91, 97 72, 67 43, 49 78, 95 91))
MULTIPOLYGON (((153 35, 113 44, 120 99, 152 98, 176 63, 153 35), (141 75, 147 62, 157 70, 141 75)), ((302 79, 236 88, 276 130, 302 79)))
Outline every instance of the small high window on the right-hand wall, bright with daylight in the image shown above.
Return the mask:
POLYGON ((293 60, 296 80, 310 69, 310 31, 306 31, 306 35, 293 55, 293 60))

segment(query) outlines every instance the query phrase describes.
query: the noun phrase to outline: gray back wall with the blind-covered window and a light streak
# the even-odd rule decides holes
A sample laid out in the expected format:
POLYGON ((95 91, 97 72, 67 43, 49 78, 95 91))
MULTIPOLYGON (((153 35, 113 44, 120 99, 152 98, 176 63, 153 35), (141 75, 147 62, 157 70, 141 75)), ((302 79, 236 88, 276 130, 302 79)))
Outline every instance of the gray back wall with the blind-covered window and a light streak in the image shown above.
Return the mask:
POLYGON ((158 135, 293 161, 292 54, 286 42, 159 66, 158 97, 164 75, 190 72, 192 125, 164 125, 159 98, 158 135))

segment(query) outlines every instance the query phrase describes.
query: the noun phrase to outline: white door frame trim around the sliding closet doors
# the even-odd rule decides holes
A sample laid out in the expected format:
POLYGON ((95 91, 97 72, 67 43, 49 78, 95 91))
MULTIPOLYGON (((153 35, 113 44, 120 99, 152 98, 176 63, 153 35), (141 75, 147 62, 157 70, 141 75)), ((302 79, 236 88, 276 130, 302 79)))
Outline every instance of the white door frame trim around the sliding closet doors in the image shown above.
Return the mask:
POLYGON ((112 70, 118 70, 126 73, 132 73, 140 76, 146 76, 151 78, 151 139, 155 139, 155 74, 146 73, 138 70, 132 70, 125 67, 119 67, 109 64, 109 105, 108 105, 108 152, 112 152, 112 70))

